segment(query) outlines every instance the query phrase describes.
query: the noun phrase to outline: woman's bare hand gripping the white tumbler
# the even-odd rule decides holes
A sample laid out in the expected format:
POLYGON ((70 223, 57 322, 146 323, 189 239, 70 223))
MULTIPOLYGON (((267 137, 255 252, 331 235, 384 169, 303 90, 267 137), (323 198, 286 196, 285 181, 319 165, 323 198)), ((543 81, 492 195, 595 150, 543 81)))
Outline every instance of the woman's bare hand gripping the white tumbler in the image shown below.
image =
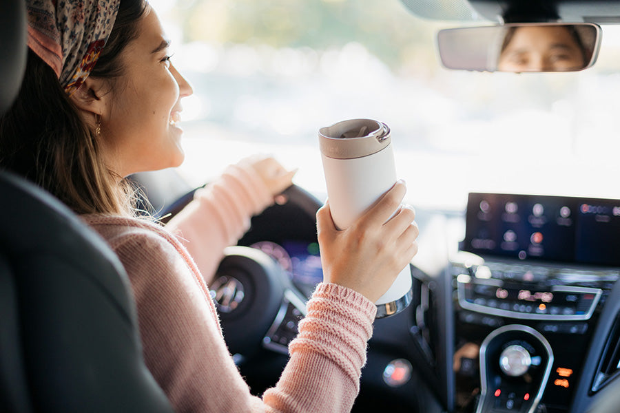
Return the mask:
POLYGON ((401 206, 398 181, 349 228, 336 229, 329 200, 316 213, 323 281, 351 288, 375 302, 417 253, 415 211, 401 206), (398 210, 398 211, 397 211, 398 210), (397 213, 392 217, 394 211, 397 213))

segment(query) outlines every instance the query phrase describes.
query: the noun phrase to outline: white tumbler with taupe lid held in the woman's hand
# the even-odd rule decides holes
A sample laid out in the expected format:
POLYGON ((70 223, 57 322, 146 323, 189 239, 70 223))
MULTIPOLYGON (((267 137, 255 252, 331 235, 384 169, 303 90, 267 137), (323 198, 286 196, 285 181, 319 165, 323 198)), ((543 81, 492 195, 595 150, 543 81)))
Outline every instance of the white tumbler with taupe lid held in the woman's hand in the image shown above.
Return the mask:
MULTIPOLYGON (((390 128, 377 120, 343 120, 319 129, 319 144, 333 222, 345 229, 396 182, 390 128)), ((406 266, 378 301, 376 318, 404 310, 413 297, 406 266)))

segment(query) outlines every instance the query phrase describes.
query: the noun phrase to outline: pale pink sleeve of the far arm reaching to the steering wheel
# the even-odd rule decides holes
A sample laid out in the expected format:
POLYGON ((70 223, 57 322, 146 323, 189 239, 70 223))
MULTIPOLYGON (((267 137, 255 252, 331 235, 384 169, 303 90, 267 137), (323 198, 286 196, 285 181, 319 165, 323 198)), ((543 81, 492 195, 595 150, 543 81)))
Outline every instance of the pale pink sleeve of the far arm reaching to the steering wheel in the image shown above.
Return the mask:
POLYGON ((241 161, 203 189, 166 225, 180 238, 207 282, 211 282, 224 248, 249 229, 250 218, 273 202, 265 182, 241 161))

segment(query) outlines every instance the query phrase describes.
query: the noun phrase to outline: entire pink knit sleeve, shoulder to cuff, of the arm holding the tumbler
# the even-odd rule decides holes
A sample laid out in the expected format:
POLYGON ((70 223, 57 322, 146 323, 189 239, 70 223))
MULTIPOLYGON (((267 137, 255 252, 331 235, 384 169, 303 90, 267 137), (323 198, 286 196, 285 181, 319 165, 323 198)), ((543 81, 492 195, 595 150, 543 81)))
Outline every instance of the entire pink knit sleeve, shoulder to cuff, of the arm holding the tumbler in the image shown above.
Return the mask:
POLYGON ((91 219, 129 275, 147 368, 176 412, 348 412, 359 391, 375 305, 321 283, 289 345, 274 388, 253 396, 224 341, 216 309, 191 257, 167 231, 91 219))

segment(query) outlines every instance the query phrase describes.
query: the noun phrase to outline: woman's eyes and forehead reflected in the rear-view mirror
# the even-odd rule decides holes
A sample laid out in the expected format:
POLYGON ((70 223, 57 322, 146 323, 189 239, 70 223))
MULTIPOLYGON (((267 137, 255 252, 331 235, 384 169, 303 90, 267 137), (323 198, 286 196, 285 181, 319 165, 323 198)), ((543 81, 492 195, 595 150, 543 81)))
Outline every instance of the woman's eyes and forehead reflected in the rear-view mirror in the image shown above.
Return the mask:
POLYGON ((575 35, 564 26, 516 28, 499 55, 497 70, 506 72, 566 72, 588 63, 575 35))

